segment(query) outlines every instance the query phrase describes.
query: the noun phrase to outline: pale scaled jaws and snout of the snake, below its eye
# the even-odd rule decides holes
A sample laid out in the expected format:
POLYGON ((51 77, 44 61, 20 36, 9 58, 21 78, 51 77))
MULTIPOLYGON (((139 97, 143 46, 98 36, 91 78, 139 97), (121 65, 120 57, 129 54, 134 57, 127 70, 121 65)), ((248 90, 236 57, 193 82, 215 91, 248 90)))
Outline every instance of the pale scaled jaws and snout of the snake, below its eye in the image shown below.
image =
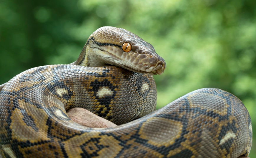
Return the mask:
POLYGON ((165 70, 165 61, 155 54, 139 54, 137 52, 124 52, 120 48, 107 46, 104 47, 102 60, 104 62, 125 68, 138 73, 151 75, 161 75, 165 70), (106 60, 108 59, 108 60, 106 60))

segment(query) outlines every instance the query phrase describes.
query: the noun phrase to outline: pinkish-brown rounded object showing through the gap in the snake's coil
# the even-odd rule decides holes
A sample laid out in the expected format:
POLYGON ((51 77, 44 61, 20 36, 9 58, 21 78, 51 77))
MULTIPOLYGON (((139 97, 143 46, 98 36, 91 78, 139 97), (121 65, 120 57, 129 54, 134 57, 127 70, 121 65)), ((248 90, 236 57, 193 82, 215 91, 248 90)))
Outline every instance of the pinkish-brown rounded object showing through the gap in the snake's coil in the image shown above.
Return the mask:
POLYGON ((110 122, 109 120, 99 117, 93 114, 92 112, 80 107, 69 109, 67 111, 67 114, 71 120, 86 127, 109 128, 109 127, 117 126, 116 124, 110 122))

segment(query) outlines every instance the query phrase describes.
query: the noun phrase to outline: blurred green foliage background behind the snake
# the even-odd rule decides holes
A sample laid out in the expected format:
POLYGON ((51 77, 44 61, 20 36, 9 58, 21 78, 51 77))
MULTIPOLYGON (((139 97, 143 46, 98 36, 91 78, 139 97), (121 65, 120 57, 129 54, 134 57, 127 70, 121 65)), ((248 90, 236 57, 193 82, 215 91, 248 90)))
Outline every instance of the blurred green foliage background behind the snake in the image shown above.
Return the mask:
POLYGON ((220 88, 244 102, 256 131, 255 13, 251 0, 2 0, 0 84, 29 68, 71 63, 97 28, 121 27, 166 61, 155 76, 157 108, 199 88, 220 88))

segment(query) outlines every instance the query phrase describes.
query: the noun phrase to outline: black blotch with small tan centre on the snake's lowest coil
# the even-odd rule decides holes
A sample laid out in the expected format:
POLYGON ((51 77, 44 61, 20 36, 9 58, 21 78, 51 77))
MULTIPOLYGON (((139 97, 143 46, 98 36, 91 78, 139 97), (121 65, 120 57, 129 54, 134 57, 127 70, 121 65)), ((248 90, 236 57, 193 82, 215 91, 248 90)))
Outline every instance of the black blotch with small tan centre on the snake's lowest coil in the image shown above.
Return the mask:
POLYGON ((85 142, 84 144, 80 145, 81 150, 83 151, 83 153, 81 153, 81 157, 95 157, 95 156, 99 156, 98 152, 100 150, 102 150, 103 148, 109 148, 109 146, 105 146, 105 145, 100 145, 100 140, 101 138, 91 138, 90 140, 88 140, 87 142, 85 142), (87 144, 89 144, 89 142, 93 142, 93 144, 96 146, 97 149, 93 149, 91 147, 89 147, 89 149, 94 150, 91 154, 89 154, 85 147, 87 146, 87 144))

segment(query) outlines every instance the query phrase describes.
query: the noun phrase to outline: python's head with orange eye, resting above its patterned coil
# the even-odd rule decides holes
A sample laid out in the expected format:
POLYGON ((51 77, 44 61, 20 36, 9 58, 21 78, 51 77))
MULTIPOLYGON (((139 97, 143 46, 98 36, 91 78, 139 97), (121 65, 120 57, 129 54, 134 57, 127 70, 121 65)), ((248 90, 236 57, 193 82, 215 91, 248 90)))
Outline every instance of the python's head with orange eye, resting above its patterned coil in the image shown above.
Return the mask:
POLYGON ((122 28, 101 27, 88 38, 79 65, 116 65, 127 70, 161 75, 166 67, 154 47, 134 33, 122 28))

